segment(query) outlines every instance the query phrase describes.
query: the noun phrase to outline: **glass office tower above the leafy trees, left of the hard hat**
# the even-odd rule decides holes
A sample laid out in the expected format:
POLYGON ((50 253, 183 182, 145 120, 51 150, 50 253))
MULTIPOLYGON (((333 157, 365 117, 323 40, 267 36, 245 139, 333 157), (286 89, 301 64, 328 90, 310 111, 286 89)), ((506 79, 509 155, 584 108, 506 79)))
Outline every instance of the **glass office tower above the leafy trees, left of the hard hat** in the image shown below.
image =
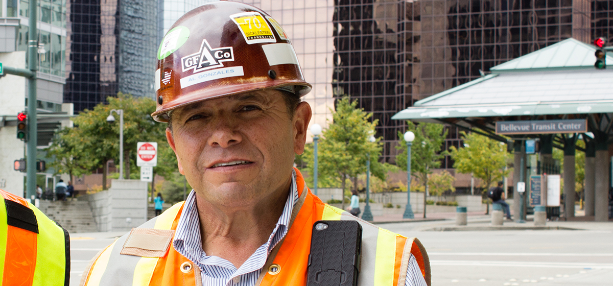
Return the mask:
POLYGON ((69 59, 64 102, 91 109, 117 92, 154 97, 158 1, 67 4, 69 59))

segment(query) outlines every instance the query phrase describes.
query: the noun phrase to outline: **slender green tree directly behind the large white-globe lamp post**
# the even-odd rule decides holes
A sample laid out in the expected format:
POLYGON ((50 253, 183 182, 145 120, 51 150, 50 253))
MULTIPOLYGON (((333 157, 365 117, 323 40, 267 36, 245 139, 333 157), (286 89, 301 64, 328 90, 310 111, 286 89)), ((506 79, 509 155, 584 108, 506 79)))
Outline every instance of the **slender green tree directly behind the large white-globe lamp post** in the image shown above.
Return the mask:
MULTIPOLYGON (((407 131, 415 134, 415 139, 411 145, 411 175, 416 176, 423 184, 424 193, 424 218, 426 197, 428 194, 428 179, 432 174, 433 169, 441 166, 441 159, 444 157, 444 152, 441 153, 443 141, 447 137, 447 131, 444 130, 442 124, 419 122, 413 124, 411 121, 406 121, 407 131)), ((406 171, 406 141, 404 134, 398 131, 400 145, 396 149, 400 151, 396 155, 396 165, 406 171)))

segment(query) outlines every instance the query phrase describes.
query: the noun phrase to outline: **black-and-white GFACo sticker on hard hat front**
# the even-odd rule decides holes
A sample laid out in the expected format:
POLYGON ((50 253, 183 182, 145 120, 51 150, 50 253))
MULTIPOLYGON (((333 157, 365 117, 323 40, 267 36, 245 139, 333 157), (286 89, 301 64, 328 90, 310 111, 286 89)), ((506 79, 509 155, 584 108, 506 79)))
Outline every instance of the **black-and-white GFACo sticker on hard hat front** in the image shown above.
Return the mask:
POLYGON ((181 58, 181 66, 183 66, 183 72, 191 69, 194 72, 200 72, 201 70, 223 67, 223 62, 227 61, 234 61, 232 47, 211 48, 211 45, 204 39, 197 53, 181 58))

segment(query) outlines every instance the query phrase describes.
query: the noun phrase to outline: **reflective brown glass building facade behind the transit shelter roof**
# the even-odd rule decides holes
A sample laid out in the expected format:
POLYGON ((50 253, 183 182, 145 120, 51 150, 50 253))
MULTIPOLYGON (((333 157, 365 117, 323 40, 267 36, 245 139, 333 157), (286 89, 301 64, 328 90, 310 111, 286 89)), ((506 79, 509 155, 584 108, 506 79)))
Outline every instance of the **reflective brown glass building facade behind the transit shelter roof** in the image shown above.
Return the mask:
MULTIPOLYGON (((573 37, 613 42, 611 0, 243 0, 271 13, 294 43, 313 122, 326 126, 348 94, 379 120, 383 160, 394 162, 404 122, 390 117, 481 77, 490 67, 573 37)), ((460 147, 448 126, 444 148, 460 147)), ((450 157, 442 168, 452 168, 450 157)))

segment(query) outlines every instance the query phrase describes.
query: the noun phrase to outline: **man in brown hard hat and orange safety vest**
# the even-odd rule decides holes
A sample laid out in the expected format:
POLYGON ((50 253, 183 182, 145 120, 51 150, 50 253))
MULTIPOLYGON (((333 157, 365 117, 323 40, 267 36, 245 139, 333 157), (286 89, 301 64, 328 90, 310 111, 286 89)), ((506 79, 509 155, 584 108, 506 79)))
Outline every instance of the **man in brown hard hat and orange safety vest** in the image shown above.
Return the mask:
MULTIPOLYGON (((168 122, 194 190, 103 250, 82 284, 305 285, 313 224, 358 219, 322 203, 292 168, 311 86, 287 35, 256 7, 215 2, 173 25, 158 60, 153 118, 168 122)), ((417 239, 359 222, 359 285, 430 284, 417 239)))

